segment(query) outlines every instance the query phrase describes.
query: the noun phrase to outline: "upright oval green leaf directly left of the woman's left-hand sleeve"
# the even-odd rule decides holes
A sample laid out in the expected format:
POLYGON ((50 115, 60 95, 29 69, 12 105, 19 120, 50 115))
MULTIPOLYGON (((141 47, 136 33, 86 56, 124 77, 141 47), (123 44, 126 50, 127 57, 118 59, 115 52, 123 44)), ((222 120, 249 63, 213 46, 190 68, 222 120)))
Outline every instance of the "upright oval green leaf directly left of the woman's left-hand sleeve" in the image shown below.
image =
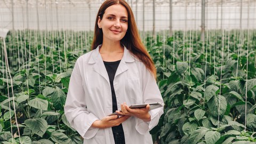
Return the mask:
POLYGON ((52 93, 52 101, 54 108, 57 110, 62 109, 65 104, 66 95, 58 86, 56 86, 56 89, 52 93))

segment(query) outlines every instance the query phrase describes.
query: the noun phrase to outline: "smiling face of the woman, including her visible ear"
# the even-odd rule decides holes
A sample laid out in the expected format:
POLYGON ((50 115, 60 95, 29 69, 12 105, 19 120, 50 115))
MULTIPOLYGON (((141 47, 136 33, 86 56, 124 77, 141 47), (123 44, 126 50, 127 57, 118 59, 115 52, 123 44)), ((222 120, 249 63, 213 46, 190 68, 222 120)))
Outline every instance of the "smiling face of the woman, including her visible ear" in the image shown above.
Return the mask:
POLYGON ((120 41, 128 28, 127 10, 121 4, 109 6, 98 20, 98 26, 102 28, 103 41, 120 41))

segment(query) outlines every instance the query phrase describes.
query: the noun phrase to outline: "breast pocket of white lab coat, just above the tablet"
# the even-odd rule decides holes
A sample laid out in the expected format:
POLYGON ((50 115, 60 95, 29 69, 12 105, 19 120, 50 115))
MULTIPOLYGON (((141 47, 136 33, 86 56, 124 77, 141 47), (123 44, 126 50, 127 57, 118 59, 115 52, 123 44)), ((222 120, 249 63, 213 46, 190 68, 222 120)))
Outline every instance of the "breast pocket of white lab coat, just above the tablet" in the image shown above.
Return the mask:
POLYGON ((134 100, 132 104, 142 103, 142 91, 139 79, 129 79, 129 95, 134 100))

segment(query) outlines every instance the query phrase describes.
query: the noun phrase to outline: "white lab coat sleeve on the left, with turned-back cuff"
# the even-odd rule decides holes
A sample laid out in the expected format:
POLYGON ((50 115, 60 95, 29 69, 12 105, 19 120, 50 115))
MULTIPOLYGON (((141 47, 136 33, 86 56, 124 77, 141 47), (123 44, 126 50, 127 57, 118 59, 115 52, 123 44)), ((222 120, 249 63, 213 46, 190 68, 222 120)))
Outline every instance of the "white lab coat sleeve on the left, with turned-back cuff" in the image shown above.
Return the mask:
POLYGON ((98 128, 91 127, 92 123, 99 118, 87 111, 85 97, 86 95, 77 60, 70 77, 64 110, 70 125, 77 130, 83 138, 90 139, 94 137, 99 130, 98 128))

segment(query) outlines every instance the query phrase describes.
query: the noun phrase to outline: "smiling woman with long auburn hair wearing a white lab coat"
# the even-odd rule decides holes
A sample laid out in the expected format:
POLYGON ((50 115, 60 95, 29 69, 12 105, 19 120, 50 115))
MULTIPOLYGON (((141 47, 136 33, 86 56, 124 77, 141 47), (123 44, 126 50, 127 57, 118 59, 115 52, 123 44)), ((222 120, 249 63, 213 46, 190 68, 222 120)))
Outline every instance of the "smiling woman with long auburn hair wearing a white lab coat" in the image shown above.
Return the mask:
POLYGON ((163 108, 128 106, 163 102, 155 78, 130 6, 124 0, 105 1, 97 14, 92 51, 77 59, 70 77, 65 104, 70 125, 84 143, 153 143, 149 131, 163 108), (119 116, 108 116, 114 112, 119 116))

